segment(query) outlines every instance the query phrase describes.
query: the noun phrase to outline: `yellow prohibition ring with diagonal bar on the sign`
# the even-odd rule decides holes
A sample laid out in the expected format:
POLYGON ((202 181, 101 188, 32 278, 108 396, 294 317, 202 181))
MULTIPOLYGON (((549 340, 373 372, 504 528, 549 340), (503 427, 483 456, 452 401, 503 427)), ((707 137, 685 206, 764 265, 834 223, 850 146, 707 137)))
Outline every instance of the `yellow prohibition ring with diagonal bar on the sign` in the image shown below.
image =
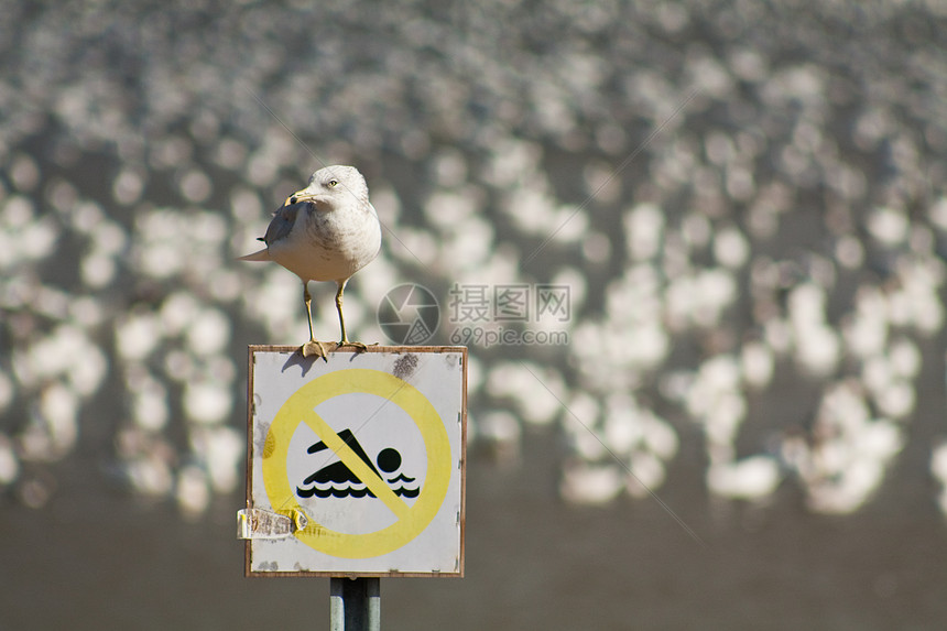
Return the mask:
POLYGON ((367 534, 336 532, 315 519, 296 537, 309 547, 329 556, 369 558, 402 547, 421 534, 440 510, 450 483, 450 439, 437 410, 416 388, 393 374, 367 368, 351 368, 328 372, 309 381, 290 396, 270 424, 263 449, 263 485, 273 510, 293 515, 302 510, 290 485, 286 459, 290 440, 301 423, 306 423, 346 463, 375 497, 395 513, 398 520, 367 534), (414 421, 427 452, 427 474, 421 494, 409 507, 394 496, 387 483, 371 472, 364 463, 338 437, 336 432, 315 412, 315 407, 341 394, 368 393, 391 401, 414 421), (370 480, 369 481, 367 481, 370 480))

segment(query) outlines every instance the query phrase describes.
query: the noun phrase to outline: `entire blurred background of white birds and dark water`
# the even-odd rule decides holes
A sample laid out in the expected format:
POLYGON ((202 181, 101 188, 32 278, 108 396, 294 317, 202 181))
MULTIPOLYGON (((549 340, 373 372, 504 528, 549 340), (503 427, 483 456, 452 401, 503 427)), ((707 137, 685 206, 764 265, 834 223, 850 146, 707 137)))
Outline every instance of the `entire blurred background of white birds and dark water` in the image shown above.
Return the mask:
POLYGON ((235 258, 334 163, 385 228, 353 337, 403 283, 436 344, 567 336, 471 339, 467 577, 387 629, 947 623, 943 0, 0 13, 0 629, 328 627, 242 576, 247 345, 306 325, 235 258))

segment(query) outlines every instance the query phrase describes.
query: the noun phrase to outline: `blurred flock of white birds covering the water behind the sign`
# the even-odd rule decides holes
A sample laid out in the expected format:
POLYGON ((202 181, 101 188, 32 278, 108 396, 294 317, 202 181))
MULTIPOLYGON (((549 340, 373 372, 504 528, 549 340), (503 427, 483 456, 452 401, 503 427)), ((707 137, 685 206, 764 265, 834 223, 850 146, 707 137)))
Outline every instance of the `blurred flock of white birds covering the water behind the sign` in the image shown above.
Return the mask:
MULTIPOLYGON (((246 346, 307 329, 293 274, 235 259, 329 163, 384 225, 352 337, 387 341, 405 282, 443 296, 445 344, 450 286, 569 289, 532 325, 568 345, 471 346, 469 380, 471 445, 554 427, 569 502, 660 494, 699 440, 712 496, 852 512, 918 402, 944 423, 943 3, 297 4, 0 26, 11 497, 45 504, 80 445, 186 515, 242 488, 246 346)), ((947 442, 925 453, 947 513, 947 442)))

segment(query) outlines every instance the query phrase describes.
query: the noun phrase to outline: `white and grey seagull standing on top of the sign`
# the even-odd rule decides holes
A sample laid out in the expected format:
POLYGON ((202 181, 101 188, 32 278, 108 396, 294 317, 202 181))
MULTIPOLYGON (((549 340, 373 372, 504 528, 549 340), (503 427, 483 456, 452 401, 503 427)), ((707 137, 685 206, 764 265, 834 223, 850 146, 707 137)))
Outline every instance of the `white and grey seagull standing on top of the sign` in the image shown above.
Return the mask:
POLYGON ((366 350, 360 341, 349 341, 342 316, 342 292, 349 279, 369 264, 381 248, 381 224, 368 200, 368 185, 353 166, 320 168, 309 184, 290 195, 273 214, 266 235, 259 239, 266 247, 240 257, 241 261, 275 261, 303 281, 303 301, 309 320, 309 341, 300 350, 303 357, 328 361, 326 347, 313 335, 309 281, 335 281, 336 308, 342 338, 336 348, 351 346, 366 350))

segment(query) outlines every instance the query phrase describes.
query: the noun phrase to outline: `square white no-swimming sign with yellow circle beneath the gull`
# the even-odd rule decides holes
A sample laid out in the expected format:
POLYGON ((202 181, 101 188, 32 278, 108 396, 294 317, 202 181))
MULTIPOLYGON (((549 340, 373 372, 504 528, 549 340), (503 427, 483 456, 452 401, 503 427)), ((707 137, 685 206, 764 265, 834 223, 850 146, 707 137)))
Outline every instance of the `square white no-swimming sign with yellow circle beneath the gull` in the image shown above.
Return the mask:
POLYGON ((467 349, 250 347, 248 575, 462 576, 467 349))

